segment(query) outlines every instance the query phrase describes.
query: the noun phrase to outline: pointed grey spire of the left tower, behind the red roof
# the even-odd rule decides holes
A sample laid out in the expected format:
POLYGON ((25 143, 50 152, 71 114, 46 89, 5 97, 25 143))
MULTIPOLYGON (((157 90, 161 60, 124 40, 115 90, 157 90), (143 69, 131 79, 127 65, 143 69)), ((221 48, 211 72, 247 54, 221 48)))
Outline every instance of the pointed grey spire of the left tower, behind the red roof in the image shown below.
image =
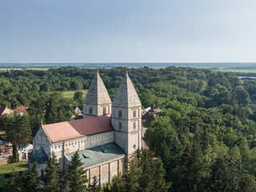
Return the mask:
POLYGON ((93 81, 90 83, 89 90, 83 103, 90 105, 102 105, 111 103, 110 95, 106 90, 106 86, 102 82, 102 78, 98 74, 98 70, 93 81))

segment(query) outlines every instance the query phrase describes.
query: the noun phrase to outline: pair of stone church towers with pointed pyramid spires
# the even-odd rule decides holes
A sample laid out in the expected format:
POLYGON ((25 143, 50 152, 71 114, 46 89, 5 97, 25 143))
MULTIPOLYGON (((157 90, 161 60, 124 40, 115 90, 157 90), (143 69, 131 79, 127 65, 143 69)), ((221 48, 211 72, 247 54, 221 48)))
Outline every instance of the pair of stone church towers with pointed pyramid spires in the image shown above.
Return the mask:
POLYGON ((111 115, 114 140, 128 155, 142 148, 142 104, 128 74, 111 102, 98 72, 83 102, 83 118, 111 115))

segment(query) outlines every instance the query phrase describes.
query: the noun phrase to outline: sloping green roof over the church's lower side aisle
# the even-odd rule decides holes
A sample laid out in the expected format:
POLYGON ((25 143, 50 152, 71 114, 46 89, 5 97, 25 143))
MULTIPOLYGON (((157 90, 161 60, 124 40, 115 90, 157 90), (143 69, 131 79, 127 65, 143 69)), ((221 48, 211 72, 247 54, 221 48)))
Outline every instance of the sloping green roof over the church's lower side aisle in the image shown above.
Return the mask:
MULTIPOLYGON (((83 167, 105 162, 114 158, 121 158, 126 153, 116 143, 111 142, 103 146, 95 146, 87 150, 78 151, 79 157, 83 163, 83 167)), ((65 154, 66 158, 70 161, 74 153, 65 154)))

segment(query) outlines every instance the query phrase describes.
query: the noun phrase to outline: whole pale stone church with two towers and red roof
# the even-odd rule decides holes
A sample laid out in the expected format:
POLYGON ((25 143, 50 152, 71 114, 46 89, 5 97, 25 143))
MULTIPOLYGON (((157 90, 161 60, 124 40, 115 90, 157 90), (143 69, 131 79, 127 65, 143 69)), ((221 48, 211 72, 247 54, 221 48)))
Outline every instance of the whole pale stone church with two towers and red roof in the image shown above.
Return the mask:
POLYGON ((87 178, 99 184, 126 169, 127 158, 142 148, 142 105, 126 73, 111 102, 100 75, 95 75, 83 102, 83 118, 42 125, 33 140, 33 157, 38 174, 44 174, 51 154, 57 155, 61 170, 66 170, 78 151, 87 178))

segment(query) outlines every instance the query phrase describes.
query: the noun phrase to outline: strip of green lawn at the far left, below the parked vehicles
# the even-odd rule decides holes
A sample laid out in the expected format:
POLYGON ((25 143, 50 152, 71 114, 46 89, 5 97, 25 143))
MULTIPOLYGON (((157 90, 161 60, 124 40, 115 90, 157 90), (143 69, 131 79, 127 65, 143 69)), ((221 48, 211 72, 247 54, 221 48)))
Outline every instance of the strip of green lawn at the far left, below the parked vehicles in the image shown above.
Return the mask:
POLYGON ((0 166, 0 175, 10 174, 11 172, 13 172, 13 170, 15 171, 27 170, 28 168, 27 164, 28 164, 27 161, 22 161, 22 162, 14 162, 14 163, 2 165, 0 166))

